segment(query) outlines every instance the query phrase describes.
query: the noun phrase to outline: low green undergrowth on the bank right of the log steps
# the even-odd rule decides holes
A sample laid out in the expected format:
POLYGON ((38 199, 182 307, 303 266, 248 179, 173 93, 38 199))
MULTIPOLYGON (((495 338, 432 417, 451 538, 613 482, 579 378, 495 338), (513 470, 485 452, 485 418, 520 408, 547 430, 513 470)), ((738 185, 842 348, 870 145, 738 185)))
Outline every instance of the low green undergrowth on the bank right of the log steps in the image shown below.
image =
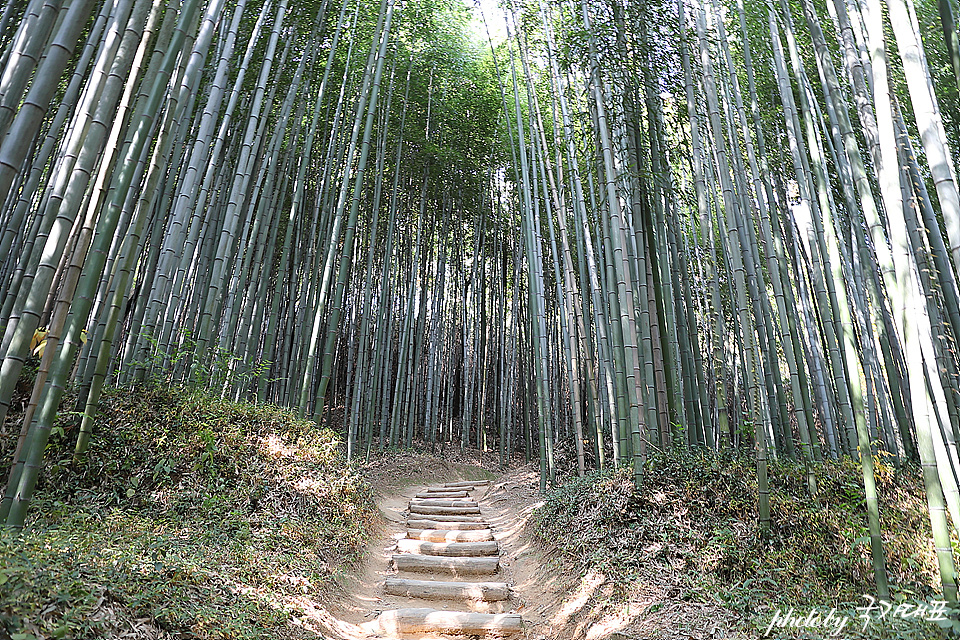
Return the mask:
MULTIPOLYGON (((773 462, 767 538, 759 535, 754 462, 690 452, 651 457, 639 490, 632 469, 621 467, 550 491, 533 534, 566 566, 602 574, 621 599, 658 585, 664 599, 735 612, 751 635, 763 635, 778 609, 781 617, 791 608, 806 617, 836 607, 835 616, 851 620, 842 635, 821 630, 824 637, 942 637, 931 623, 904 619, 939 592, 922 479, 917 470, 877 463, 887 570, 894 607, 902 605, 897 620, 858 610, 876 590, 862 475, 849 459, 817 466, 817 501, 802 465, 773 462)), ((770 637, 821 636, 808 626, 774 627, 770 637)))

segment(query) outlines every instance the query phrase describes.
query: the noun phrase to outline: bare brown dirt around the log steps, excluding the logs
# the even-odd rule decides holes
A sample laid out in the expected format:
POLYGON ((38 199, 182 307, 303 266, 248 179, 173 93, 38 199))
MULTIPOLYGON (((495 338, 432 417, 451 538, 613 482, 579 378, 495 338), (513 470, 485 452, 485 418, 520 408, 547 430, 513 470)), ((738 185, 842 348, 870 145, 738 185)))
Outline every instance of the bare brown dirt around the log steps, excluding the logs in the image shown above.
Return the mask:
MULTIPOLYGON (((435 459, 434 459, 435 460, 435 459)), ((395 472, 396 473, 396 472, 395 472)), ((322 603, 301 603, 307 611, 304 626, 320 632, 322 638, 361 640, 383 636, 368 635, 361 628, 384 611, 423 607, 447 611, 519 614, 522 632, 511 637, 524 640, 632 640, 697 638, 743 638, 730 632, 730 620, 716 607, 680 602, 671 595, 669 580, 646 582, 642 588, 616 604, 612 583, 602 575, 580 575, 547 557, 525 531, 531 514, 540 501, 538 474, 522 468, 491 479, 489 486, 471 492, 479 503, 483 520, 493 528, 499 543, 500 569, 496 582, 510 585, 505 602, 427 600, 389 595, 384 580, 397 575, 391 568, 397 540, 406 533, 406 510, 410 500, 427 486, 445 482, 477 479, 484 472, 467 465, 447 465, 442 469, 419 469, 411 477, 393 478, 381 485, 378 505, 384 526, 368 546, 362 568, 345 581, 335 596, 322 603), (319 606, 318 606, 319 604, 319 606)), ((417 578, 450 580, 449 576, 419 574, 417 578)), ((486 580, 487 578, 476 578, 486 580)), ((465 578, 464 580, 472 580, 465 578)), ((411 634, 400 636, 418 640, 439 640, 449 635, 411 634)), ((488 637, 495 637, 493 635, 488 637)))

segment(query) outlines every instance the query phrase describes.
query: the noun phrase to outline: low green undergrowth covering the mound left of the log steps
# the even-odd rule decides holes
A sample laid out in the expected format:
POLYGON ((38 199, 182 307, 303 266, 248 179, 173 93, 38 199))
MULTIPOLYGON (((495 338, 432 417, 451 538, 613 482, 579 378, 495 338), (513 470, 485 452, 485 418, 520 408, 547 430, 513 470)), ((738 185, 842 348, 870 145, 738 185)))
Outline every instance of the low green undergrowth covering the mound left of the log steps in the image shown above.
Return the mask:
POLYGON ((102 405, 83 461, 65 421, 27 529, 0 533, 0 638, 307 635, 298 599, 322 600, 375 523, 332 432, 182 389, 102 405))

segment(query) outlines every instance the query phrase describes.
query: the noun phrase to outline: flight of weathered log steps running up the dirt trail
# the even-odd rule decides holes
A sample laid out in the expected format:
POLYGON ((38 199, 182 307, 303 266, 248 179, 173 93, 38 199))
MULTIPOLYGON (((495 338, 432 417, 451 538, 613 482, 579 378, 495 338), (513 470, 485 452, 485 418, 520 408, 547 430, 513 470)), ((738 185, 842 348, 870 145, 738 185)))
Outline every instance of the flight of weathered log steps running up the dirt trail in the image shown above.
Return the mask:
POLYGON ((386 593, 437 601, 443 609, 409 607, 382 612, 363 628, 373 637, 409 634, 504 637, 521 631, 519 614, 505 613, 510 587, 495 581, 500 544, 471 497, 488 481, 448 482, 410 500, 406 537, 397 541, 391 564, 395 576, 386 593), (462 607, 469 611, 449 610, 462 607))

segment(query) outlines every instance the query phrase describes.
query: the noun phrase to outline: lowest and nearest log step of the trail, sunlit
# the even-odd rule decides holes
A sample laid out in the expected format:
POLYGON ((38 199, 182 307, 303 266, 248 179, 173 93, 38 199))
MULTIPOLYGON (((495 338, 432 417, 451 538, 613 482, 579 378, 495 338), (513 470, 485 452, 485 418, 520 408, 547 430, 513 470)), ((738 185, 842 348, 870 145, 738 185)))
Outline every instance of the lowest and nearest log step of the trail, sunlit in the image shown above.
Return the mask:
POLYGON ((405 633, 486 635, 488 632, 512 635, 522 630, 523 618, 515 613, 394 609, 384 611, 376 620, 361 626, 368 631, 396 635, 405 633))

